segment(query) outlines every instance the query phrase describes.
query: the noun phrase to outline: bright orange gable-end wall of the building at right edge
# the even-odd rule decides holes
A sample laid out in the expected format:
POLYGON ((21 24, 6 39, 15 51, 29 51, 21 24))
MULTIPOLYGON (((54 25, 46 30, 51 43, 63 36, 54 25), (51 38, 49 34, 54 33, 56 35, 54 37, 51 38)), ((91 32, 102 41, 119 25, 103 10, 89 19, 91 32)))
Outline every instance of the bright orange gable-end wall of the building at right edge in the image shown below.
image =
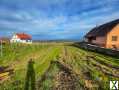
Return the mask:
POLYGON ((107 34, 106 48, 113 48, 113 45, 119 48, 119 24, 107 34), (112 41, 112 36, 117 36, 117 41, 112 41))

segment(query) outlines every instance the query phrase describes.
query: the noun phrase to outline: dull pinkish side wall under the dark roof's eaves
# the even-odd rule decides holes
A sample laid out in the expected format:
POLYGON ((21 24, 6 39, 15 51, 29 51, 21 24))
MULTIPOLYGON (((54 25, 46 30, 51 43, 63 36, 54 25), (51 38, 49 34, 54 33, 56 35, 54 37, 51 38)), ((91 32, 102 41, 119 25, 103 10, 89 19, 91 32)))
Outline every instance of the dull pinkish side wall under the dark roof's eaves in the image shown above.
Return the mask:
POLYGON ((106 44, 106 36, 104 37, 96 37, 96 40, 92 40, 92 43, 97 44, 101 47, 105 47, 106 44))

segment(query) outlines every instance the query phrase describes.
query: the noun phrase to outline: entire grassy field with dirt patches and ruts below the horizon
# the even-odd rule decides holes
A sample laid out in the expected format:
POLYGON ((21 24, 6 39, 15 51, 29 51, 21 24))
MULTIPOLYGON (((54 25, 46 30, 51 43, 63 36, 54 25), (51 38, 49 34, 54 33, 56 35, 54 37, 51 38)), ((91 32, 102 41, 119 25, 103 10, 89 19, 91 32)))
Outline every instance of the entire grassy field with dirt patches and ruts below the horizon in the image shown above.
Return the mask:
POLYGON ((6 45, 0 66, 14 70, 0 90, 24 90, 28 61, 34 61, 37 90, 109 90, 119 81, 119 59, 64 43, 6 45))

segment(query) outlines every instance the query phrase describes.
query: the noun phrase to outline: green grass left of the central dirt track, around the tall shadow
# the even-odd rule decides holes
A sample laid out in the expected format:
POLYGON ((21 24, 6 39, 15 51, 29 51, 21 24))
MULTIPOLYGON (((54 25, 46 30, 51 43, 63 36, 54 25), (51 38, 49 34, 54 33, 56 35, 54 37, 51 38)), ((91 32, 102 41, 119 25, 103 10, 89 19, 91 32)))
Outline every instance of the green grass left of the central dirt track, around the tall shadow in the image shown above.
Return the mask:
POLYGON ((0 65, 9 65, 15 72, 11 80, 9 80, 9 83, 5 82, 5 85, 0 85, 0 89, 7 89, 9 87, 14 90, 16 86, 14 87, 12 83, 16 81, 21 82, 21 84, 17 85, 17 89, 19 87, 23 89, 28 60, 33 58, 35 61, 36 76, 40 77, 48 68, 50 61, 54 60, 58 55, 59 50, 59 47, 51 45, 4 46, 3 57, 0 58, 0 65))

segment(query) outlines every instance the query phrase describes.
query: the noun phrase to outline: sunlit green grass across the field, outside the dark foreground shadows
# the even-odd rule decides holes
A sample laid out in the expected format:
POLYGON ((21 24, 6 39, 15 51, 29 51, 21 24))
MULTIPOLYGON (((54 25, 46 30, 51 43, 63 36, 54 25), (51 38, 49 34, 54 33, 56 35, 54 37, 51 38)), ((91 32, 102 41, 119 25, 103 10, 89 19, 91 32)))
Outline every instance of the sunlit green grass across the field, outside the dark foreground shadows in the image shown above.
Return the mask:
MULTIPOLYGON (((88 78, 95 81, 102 90, 108 90, 110 80, 119 80, 118 77, 105 74, 108 72, 114 74, 119 67, 119 59, 103 54, 85 51, 80 48, 68 46, 68 44, 32 44, 32 45, 5 45, 3 47, 3 56, 0 57, 0 66, 10 66, 14 69, 14 74, 8 81, 0 85, 0 90, 23 90, 27 64, 30 59, 35 62, 36 81, 46 72, 53 60, 59 60, 69 66, 81 78, 80 83, 85 86, 86 72, 90 75, 88 78), (87 56, 94 56, 90 60, 87 56), (88 64, 88 63, 89 64, 88 64), (111 67, 113 66, 113 68, 111 67), (100 70, 99 70, 100 69, 100 70), (105 71, 104 71, 105 70, 105 71), (115 71, 115 72, 114 72, 115 71)), ((49 73, 55 75, 57 67, 54 66, 49 73)), ((43 87, 49 90, 52 77, 48 77, 43 82, 43 87)), ((43 88, 42 87, 42 88, 43 88)))

